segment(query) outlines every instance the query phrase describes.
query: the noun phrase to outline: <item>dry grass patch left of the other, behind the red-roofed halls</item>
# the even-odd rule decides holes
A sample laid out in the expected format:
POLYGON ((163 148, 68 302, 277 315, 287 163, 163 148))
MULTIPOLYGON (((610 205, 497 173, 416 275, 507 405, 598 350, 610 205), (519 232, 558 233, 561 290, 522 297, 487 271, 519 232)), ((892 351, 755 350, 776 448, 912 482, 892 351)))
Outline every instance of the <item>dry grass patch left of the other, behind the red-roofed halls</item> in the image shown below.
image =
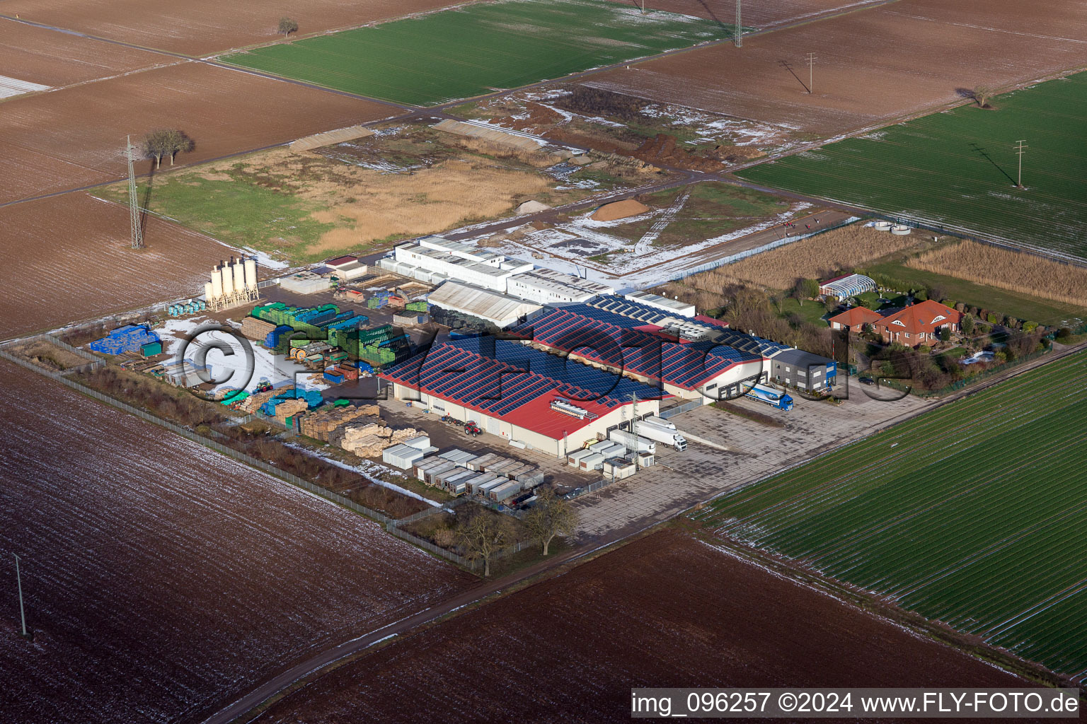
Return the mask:
POLYGON ((784 290, 792 288, 797 279, 826 278, 916 244, 912 237, 852 224, 694 275, 686 282, 696 289, 748 284, 784 290))

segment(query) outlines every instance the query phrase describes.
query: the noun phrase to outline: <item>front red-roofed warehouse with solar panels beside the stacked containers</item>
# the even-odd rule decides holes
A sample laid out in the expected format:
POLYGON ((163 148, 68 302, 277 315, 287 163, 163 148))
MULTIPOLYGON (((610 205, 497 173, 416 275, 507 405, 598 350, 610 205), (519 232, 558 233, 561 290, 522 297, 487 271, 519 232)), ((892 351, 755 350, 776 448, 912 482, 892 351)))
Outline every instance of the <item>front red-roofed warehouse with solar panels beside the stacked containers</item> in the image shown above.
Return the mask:
POLYGON ((437 344, 380 377, 399 399, 418 401, 558 457, 635 412, 655 415, 667 396, 659 388, 493 338, 437 344))

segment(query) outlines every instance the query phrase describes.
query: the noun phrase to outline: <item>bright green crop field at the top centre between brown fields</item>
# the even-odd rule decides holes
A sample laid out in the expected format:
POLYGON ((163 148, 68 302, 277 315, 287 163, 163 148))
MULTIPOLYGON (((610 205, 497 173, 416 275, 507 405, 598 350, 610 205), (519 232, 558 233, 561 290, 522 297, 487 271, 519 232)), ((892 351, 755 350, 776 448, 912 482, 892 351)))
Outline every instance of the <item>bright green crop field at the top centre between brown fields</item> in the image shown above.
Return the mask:
POLYGON ((604 0, 476 3, 221 60, 433 105, 730 37, 732 26, 604 0))

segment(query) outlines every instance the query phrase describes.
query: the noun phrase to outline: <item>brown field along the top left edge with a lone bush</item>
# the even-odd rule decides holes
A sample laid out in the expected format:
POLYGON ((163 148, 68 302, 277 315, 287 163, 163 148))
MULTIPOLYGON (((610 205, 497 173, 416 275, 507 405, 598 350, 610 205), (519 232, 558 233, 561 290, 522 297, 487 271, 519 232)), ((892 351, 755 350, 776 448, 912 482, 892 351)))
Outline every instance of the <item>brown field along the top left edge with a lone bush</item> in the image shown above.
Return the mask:
POLYGON ((299 31, 321 33, 426 12, 448 0, 311 0, 301 9, 288 0, 4 0, 3 12, 23 20, 89 33, 175 53, 202 55, 240 46, 271 42, 284 15, 298 16, 299 31))

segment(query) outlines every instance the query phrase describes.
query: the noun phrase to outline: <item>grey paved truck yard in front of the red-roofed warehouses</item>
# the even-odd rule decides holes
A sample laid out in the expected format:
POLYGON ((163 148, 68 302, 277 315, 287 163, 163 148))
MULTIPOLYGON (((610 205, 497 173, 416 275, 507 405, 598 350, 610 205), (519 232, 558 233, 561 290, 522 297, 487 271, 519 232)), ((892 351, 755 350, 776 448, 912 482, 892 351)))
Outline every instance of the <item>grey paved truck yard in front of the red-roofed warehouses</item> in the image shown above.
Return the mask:
POLYGON ((788 412, 752 399, 735 402, 739 407, 783 420, 784 428, 709 406, 672 418, 680 432, 727 449, 698 442, 689 442, 683 453, 658 446, 660 465, 576 500, 582 513, 579 539, 590 542, 646 528, 934 404, 916 397, 874 401, 857 386, 851 386, 850 398, 840 406, 796 395, 796 406, 788 412))

